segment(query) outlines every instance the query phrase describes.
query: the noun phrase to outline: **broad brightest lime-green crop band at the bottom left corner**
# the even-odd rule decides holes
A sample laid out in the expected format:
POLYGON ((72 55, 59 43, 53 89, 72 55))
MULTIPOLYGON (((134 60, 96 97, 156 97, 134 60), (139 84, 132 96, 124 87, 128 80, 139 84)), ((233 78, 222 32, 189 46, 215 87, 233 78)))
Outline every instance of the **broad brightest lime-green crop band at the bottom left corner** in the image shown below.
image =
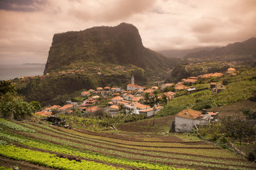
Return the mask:
POLYGON ((116 169, 93 161, 81 160, 81 162, 76 162, 76 160, 57 157, 55 154, 17 148, 10 145, 0 145, 0 155, 58 169, 116 169))

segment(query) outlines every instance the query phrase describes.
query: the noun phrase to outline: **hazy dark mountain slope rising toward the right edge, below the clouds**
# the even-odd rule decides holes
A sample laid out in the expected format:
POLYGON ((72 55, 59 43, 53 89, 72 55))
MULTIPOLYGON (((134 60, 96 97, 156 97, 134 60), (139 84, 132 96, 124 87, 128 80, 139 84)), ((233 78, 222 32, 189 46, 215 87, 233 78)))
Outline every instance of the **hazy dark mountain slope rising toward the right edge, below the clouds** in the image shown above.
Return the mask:
POLYGON ((186 59, 193 60, 255 60, 256 59, 256 38, 250 38, 243 42, 228 44, 211 51, 202 50, 200 52, 189 53, 186 59))

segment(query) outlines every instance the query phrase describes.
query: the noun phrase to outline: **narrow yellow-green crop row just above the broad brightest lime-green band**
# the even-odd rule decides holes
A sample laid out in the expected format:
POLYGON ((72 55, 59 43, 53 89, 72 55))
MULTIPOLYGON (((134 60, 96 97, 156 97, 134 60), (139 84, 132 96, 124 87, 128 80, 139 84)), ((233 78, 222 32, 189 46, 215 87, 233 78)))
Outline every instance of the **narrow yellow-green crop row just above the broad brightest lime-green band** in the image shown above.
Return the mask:
POLYGON ((56 152, 56 153, 63 153, 66 155, 74 155, 76 157, 83 157, 85 159, 92 159, 92 160, 99 160, 102 162, 109 162, 111 164, 120 164, 124 166, 131 166, 136 168, 144 168, 144 169, 173 169, 173 167, 165 166, 162 164, 149 164, 141 161, 134 161, 134 160, 127 160, 127 159, 116 159, 115 157, 111 157, 108 155, 102 155, 100 153, 93 153, 89 151, 81 151, 76 148, 71 148, 69 146, 61 146, 55 145, 46 141, 42 141, 40 143, 33 139, 22 139, 20 135, 10 135, 4 134, 4 132, 0 133, 0 138, 8 140, 8 141, 15 141, 19 142, 22 145, 30 146, 33 148, 38 148, 42 150, 47 150, 49 152, 56 152))

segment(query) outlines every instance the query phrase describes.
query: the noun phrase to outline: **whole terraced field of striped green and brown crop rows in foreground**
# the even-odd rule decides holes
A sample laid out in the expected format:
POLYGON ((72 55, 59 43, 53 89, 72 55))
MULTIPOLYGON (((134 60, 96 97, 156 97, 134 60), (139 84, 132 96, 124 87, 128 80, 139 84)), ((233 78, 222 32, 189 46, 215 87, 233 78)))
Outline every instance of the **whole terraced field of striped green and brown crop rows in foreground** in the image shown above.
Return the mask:
POLYGON ((112 135, 0 119, 0 163, 20 169, 256 168, 209 143, 169 138, 163 141, 161 137, 112 135))

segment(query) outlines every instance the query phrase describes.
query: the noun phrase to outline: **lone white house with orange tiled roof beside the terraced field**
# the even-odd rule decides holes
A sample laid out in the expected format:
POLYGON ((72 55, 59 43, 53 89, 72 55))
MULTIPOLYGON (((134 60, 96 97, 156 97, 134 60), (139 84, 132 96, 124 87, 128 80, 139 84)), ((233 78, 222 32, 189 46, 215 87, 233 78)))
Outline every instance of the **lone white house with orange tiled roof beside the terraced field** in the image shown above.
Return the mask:
POLYGON ((206 110, 182 110, 175 115, 175 132, 190 132, 196 125, 211 123, 211 115, 206 110))

